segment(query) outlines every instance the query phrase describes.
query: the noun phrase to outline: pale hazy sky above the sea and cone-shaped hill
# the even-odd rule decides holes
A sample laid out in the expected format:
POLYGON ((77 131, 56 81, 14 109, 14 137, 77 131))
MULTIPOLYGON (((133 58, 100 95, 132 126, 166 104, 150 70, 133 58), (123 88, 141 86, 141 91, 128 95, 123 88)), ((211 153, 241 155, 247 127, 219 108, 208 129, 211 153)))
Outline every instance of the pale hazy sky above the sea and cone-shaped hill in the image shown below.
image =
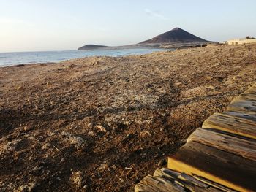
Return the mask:
POLYGON ((256 1, 0 0, 0 52, 127 45, 175 27, 212 41, 256 36, 256 1))

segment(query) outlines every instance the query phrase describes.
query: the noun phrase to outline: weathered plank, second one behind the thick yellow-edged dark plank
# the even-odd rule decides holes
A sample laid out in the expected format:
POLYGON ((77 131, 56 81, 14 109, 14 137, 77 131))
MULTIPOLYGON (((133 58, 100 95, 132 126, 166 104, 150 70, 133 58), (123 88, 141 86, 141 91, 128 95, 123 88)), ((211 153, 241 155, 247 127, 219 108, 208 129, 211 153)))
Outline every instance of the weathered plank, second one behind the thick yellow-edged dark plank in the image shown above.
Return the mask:
POLYGON ((203 122, 203 128, 216 128, 232 134, 256 139, 256 125, 254 121, 236 118, 221 113, 214 113, 203 122))

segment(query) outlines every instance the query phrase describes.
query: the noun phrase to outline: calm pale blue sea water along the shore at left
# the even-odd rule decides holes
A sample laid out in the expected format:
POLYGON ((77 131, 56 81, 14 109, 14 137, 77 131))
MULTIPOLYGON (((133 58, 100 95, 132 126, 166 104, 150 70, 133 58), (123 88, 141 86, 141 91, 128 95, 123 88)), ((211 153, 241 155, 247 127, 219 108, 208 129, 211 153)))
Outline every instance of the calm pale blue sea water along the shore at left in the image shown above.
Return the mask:
POLYGON ((16 64, 35 64, 46 62, 59 62, 71 58, 83 58, 88 56, 124 56, 143 55, 163 51, 162 49, 126 49, 126 50, 66 50, 66 51, 41 51, 41 52, 17 52, 0 53, 0 66, 12 66, 16 64))

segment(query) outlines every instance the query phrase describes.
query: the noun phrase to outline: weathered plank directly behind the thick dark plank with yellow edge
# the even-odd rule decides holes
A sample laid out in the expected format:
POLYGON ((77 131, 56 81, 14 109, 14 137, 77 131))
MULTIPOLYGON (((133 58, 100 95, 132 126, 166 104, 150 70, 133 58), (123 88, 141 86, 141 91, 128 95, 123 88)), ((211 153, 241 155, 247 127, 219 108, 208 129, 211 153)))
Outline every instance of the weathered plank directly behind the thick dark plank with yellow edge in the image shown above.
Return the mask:
POLYGON ((256 161, 255 139, 238 138, 211 129, 197 128, 187 139, 189 141, 200 142, 256 161))

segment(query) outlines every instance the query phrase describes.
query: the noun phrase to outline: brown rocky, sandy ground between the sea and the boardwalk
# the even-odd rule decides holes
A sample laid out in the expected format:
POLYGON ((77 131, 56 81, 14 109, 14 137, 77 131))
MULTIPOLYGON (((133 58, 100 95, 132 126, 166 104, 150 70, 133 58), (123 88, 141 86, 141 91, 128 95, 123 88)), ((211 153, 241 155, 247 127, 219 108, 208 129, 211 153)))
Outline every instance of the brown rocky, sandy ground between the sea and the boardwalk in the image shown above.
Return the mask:
POLYGON ((256 45, 0 68, 3 191, 132 191, 256 80, 256 45))

